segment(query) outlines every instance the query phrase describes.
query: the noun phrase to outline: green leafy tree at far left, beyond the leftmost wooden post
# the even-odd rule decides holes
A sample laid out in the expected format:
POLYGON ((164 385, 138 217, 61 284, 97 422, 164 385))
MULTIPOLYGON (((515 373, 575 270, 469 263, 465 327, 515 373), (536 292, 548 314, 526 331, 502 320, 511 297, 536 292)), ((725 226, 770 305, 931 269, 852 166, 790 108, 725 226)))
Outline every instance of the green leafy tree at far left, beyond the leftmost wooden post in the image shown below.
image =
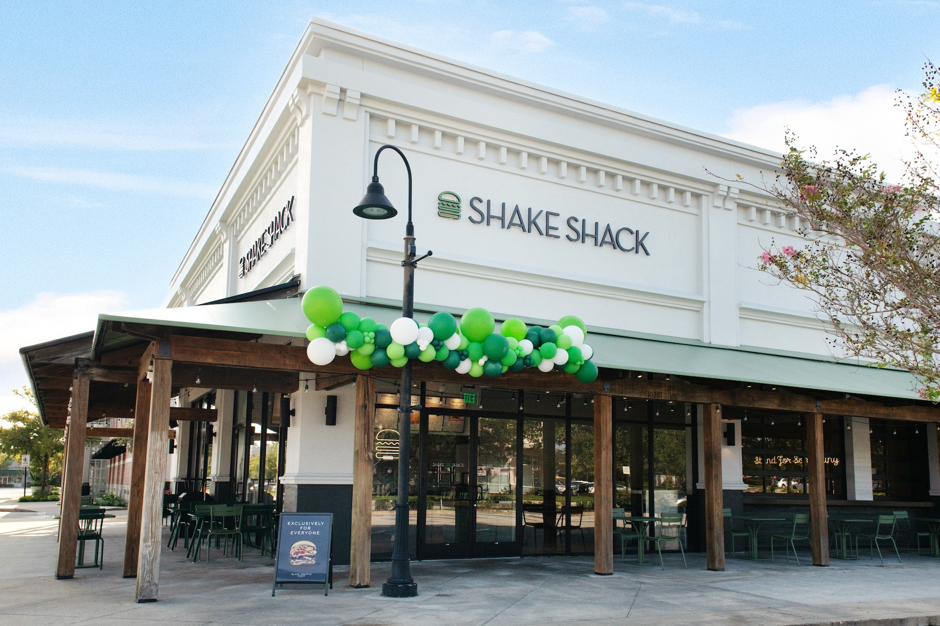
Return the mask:
MULTIPOLYGON (((33 392, 27 387, 14 390, 14 393, 36 406, 33 392)), ((0 452, 16 457, 30 455, 29 471, 33 476, 41 475, 41 489, 46 491, 50 469, 56 470, 62 465, 64 431, 43 426, 39 414, 24 409, 10 411, 3 418, 10 426, 0 427, 0 452)))

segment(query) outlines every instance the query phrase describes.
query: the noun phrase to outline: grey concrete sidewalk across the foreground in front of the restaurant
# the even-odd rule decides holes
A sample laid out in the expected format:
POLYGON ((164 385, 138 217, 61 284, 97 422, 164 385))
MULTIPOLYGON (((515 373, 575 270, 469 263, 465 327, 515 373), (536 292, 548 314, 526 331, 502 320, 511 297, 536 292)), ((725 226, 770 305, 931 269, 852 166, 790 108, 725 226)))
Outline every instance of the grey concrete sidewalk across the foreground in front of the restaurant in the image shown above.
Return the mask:
MULTIPOLYGON (((0 508, 9 505, 0 490, 0 508)), ((14 498, 15 500, 15 498, 14 498)), ((39 503, 29 503, 29 509, 39 503)), ((55 504, 55 503, 52 503, 55 504)), ((43 506, 46 506, 43 504, 43 506)), ((24 505, 21 505, 24 507, 24 505)), ((26 508, 26 507, 24 507, 26 508)), ((57 508, 56 508, 57 509, 57 508)), ((160 600, 133 602, 134 580, 120 577, 125 517, 105 523, 104 571, 78 570, 56 581, 52 512, 0 513, 0 623, 79 624, 856 624, 940 623, 940 559, 902 555, 797 568, 782 560, 728 560, 728 571, 705 571, 702 555, 678 555, 638 568, 615 559, 613 576, 595 576, 587 557, 424 561, 412 564, 417 598, 383 598, 387 563, 373 564, 374 587, 281 591, 271 597, 270 558, 247 548, 234 559, 191 563, 164 548, 160 600)), ((808 555, 807 555, 808 556, 808 555)), ((801 556, 802 558, 802 556, 801 556)))

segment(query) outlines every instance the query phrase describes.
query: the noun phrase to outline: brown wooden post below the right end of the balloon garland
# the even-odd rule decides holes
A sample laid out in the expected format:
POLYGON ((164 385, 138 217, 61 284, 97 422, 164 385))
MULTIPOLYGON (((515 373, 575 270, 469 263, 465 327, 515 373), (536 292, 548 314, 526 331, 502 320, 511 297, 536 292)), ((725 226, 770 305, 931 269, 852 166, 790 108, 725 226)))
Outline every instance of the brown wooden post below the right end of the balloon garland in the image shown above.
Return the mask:
POLYGON ((614 416, 610 396, 594 396, 594 573, 614 573, 614 416))

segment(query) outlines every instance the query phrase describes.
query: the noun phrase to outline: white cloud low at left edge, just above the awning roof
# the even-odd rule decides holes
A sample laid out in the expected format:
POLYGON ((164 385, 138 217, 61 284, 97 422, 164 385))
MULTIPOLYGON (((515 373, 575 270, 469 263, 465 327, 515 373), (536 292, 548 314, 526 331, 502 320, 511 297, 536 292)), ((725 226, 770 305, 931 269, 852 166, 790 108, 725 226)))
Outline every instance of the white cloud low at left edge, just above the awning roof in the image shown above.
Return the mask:
MULTIPOLYGON (((39 293, 18 308, 0 310, 0 382, 9 390, 27 383, 20 349, 63 336, 78 335, 95 329, 98 314, 126 307, 120 291, 80 293, 39 293)), ((15 398, 15 397, 14 397, 15 398)), ((4 402, 12 400, 4 400, 4 402)), ((0 407, 6 406, 0 404, 0 407)))

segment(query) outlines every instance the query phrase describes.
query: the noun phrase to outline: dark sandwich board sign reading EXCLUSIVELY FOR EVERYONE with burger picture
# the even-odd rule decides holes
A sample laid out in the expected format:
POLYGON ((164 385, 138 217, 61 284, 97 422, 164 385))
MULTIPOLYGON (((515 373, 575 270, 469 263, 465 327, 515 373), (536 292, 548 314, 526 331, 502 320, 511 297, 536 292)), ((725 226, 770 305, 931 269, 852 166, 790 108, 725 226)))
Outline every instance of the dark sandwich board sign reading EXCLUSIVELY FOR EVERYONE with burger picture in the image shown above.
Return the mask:
POLYGON ((333 513, 282 512, 274 560, 275 589, 333 587, 333 513))

